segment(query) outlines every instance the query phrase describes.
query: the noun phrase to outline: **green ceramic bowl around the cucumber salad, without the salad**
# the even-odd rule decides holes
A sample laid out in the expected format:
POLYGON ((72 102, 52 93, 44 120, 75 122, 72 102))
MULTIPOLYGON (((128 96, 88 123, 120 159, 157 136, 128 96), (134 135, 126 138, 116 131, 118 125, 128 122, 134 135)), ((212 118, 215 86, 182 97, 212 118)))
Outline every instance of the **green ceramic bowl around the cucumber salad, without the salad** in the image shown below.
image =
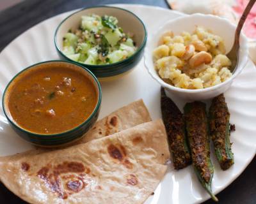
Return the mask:
MULTIPOLYGON (((62 50, 63 36, 68 32, 69 29, 77 29, 81 22, 81 16, 89 14, 97 15, 113 15, 118 19, 118 25, 124 29, 125 33, 134 34, 134 42, 136 42, 137 50, 136 52, 124 59, 123 61, 115 62, 112 64, 103 65, 90 65, 79 63, 86 68, 90 69, 92 73, 99 78, 99 80, 109 80, 117 78, 116 76, 122 76, 124 73, 130 71, 138 62, 140 62, 141 57, 143 57, 143 50, 147 41, 147 30, 145 25, 134 13, 122 8, 117 8, 113 6, 95 6, 90 8, 83 8, 82 10, 72 13, 72 15, 65 18, 60 25, 58 25, 55 35, 54 44, 60 55, 61 59, 72 61, 69 59, 62 50)), ((74 62, 74 61, 72 61, 74 62)))

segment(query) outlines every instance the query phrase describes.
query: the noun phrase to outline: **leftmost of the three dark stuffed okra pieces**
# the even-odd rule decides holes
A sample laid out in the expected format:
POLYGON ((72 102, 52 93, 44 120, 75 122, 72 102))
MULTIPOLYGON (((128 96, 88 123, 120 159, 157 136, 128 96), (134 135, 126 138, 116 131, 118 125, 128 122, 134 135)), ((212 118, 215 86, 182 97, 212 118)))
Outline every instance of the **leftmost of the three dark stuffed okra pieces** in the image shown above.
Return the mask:
POLYGON ((161 88, 161 111, 174 168, 176 170, 185 168, 191 163, 191 156, 186 142, 184 117, 172 99, 166 96, 163 87, 161 88))

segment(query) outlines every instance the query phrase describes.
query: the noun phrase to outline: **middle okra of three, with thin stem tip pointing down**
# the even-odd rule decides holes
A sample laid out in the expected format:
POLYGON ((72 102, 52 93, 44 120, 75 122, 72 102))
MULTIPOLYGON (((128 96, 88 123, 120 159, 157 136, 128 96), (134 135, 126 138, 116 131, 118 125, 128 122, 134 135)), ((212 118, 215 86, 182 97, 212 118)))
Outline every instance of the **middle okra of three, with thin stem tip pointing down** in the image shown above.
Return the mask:
POLYGON ((211 182, 213 166, 210 159, 207 115, 205 104, 199 101, 187 103, 184 107, 186 131, 195 173, 212 200, 218 198, 212 194, 211 182))

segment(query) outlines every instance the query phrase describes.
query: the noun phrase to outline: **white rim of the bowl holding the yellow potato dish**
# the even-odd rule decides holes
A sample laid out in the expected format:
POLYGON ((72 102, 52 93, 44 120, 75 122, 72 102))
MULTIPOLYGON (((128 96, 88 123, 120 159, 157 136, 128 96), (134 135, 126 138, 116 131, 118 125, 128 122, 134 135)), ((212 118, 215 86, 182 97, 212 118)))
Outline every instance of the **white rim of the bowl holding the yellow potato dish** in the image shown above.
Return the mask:
MULTIPOLYGON (((162 25, 161 27, 159 27, 159 29, 157 29, 157 31, 152 34, 152 36, 156 36, 159 31, 161 29, 163 29, 164 27, 166 27, 166 25, 169 25, 169 24, 172 24, 172 22, 175 22, 177 20, 180 20, 182 18, 191 18, 191 17, 203 17, 203 18, 216 18, 218 20, 221 20, 221 21, 225 21, 227 24, 231 25, 232 27, 236 27, 235 24, 232 24, 230 21, 228 21, 226 18, 221 18, 221 17, 218 17, 216 15, 211 15, 211 14, 202 14, 202 13, 194 13, 194 14, 191 14, 191 15, 184 15, 182 17, 177 17, 175 19, 172 19, 172 20, 168 20, 164 25, 162 25)), ((243 34, 243 31, 241 31, 241 35, 240 35, 245 43, 243 45, 243 48, 244 48, 244 57, 245 57, 245 62, 244 62, 244 66, 243 68, 246 66, 249 58, 248 58, 248 54, 249 54, 249 51, 248 51, 248 39, 246 38, 246 36, 243 34)), ((148 43, 150 44, 150 42, 148 43)), ((240 49, 240 48, 239 48, 240 49)), ((171 89, 173 91, 178 91, 178 92, 184 92, 184 93, 188 93, 188 94, 194 94, 194 93, 198 93, 198 92, 209 92, 209 91, 213 91, 215 89, 218 89, 222 86, 224 86, 225 84, 228 84, 230 83, 232 80, 234 80, 234 78, 237 77, 237 75, 239 75, 239 73, 241 73, 241 71, 243 70, 243 68, 241 69, 236 69, 235 73, 232 74, 232 76, 230 78, 228 78, 227 80, 225 80, 225 82, 221 82, 220 84, 217 84, 217 85, 214 85, 212 87, 207 87, 207 88, 204 88, 204 89, 182 89, 182 88, 179 88, 179 87, 175 87, 173 85, 170 85, 170 84, 167 84, 166 82, 164 82, 157 74, 153 73, 152 70, 149 68, 150 65, 148 65, 148 56, 147 56, 147 53, 149 52, 150 50, 148 50, 148 46, 145 47, 145 53, 144 53, 144 64, 145 64, 145 67, 147 68, 148 70, 148 73, 151 75, 152 78, 154 78, 159 84, 161 84, 164 88, 167 88, 167 89, 171 89)))

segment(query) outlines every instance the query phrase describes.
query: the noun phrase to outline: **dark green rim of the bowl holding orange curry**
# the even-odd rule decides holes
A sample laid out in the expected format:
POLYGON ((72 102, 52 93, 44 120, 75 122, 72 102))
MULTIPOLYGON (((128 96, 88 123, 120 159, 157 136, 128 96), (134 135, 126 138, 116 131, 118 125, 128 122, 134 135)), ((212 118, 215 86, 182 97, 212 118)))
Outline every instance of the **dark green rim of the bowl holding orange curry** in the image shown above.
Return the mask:
POLYGON ((44 62, 38 62, 36 64, 33 64, 31 66, 28 66, 27 68, 25 69, 22 69, 22 71, 20 71, 19 73, 17 73, 13 78, 12 80, 10 80, 10 82, 6 85, 6 88, 4 89, 4 93, 3 93, 3 98, 2 98, 2 106, 3 106, 3 111, 4 111, 4 115, 6 116, 6 118, 9 120, 9 122, 15 126, 15 128, 19 129, 20 131, 23 131, 25 133, 28 133, 30 135, 36 135, 36 136, 62 136, 62 135, 65 135, 65 134, 68 134, 68 133, 72 133, 73 131, 76 131, 77 129, 81 128, 84 124, 90 122, 90 120, 93 118, 94 116, 94 113, 96 113, 98 110, 99 110, 99 107, 100 107, 100 103, 101 103, 101 98, 102 98, 102 90, 101 90, 101 87, 100 87, 100 83, 99 81, 97 80, 97 78, 95 77, 95 75, 93 75, 92 71, 90 71, 88 68, 85 68, 84 66, 81 66, 81 64, 79 63, 76 63, 76 62, 69 62, 69 61, 61 61, 61 60, 52 60, 52 61, 44 61, 44 62), (24 129, 24 128, 21 128, 18 124, 16 124, 15 122, 13 122, 13 119, 10 119, 10 117, 8 116, 8 114, 6 113, 6 107, 4 105, 4 98, 5 98, 5 94, 6 94, 6 91, 8 89, 8 87, 10 86, 10 84, 13 82, 13 80, 18 77, 20 75, 20 73, 23 73, 24 71, 30 69, 30 68, 33 68, 34 66, 38 66, 40 64, 47 64, 47 63, 51 63, 51 62, 62 62, 62 63, 69 63, 69 64, 74 64, 76 66, 79 66, 80 68, 84 69, 85 71, 87 71, 91 76, 92 78, 94 79, 94 81, 97 83, 97 87, 99 89, 99 99, 97 101, 97 105, 95 106, 93 112, 91 113, 91 115, 86 119, 84 120, 84 122, 82 122, 81 124, 79 124, 78 126, 76 126, 75 128, 72 128, 72 129, 69 129, 65 132, 61 132, 61 133, 56 133, 56 134, 40 134, 40 133, 34 133, 34 132, 31 132, 31 131, 28 131, 27 129, 24 129))

